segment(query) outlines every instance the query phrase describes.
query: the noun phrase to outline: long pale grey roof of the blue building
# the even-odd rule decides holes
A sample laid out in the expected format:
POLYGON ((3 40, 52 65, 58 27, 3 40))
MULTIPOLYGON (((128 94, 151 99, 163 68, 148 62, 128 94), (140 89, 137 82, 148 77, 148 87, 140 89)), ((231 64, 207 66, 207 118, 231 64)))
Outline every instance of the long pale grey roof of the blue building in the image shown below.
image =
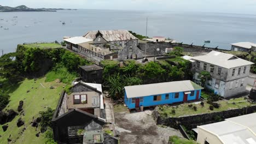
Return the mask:
POLYGON ((203 89, 203 87, 190 80, 186 80, 154 83, 149 85, 127 86, 125 87, 125 92, 127 98, 136 98, 147 97, 155 94, 194 91, 196 89, 203 89))

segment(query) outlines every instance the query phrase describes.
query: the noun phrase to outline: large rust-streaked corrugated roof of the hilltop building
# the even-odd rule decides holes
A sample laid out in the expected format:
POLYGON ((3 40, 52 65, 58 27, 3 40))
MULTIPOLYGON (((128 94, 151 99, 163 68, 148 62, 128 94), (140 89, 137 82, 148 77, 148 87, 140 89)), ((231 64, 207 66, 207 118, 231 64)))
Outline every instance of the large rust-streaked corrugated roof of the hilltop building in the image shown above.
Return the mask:
MULTIPOLYGON (((89 31, 84 35, 85 38, 95 39, 98 31, 89 31)), ((110 31, 100 31, 102 37, 107 41, 119 41, 119 40, 130 40, 137 39, 130 32, 124 29, 110 30, 110 31)))

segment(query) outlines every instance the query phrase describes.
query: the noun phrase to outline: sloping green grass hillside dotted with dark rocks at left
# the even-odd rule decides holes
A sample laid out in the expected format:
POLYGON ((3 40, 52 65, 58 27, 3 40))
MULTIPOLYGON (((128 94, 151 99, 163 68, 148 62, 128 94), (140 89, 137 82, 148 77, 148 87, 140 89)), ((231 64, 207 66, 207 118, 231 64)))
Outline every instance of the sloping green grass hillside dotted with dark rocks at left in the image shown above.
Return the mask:
POLYGON ((18 115, 13 121, 7 123, 9 127, 5 132, 2 129, 2 125, 0 125, 0 135, 2 136, 0 137, 0 143, 7 143, 7 138, 10 135, 10 139, 16 141, 15 143, 44 143, 44 134, 36 137, 36 133, 40 129, 38 128, 36 131, 36 128, 31 127, 30 122, 32 121, 32 117, 37 118, 39 116, 39 111, 45 111, 47 107, 56 108, 57 101, 60 98, 59 93, 61 93, 63 86, 65 84, 57 83, 56 81, 45 82, 45 77, 43 77, 36 81, 25 79, 16 85, 4 85, 3 88, 0 88, 0 91, 3 90, 10 95, 10 103, 5 109, 13 109, 18 112, 19 101, 23 100, 25 113, 25 116, 18 115), (55 88, 50 89, 49 87, 51 86, 55 88), (27 91, 30 92, 27 93, 27 91), (20 117, 25 121, 25 124, 18 128, 16 122, 20 117), (26 130, 23 135, 20 135, 19 133, 24 127, 26 127, 26 130))

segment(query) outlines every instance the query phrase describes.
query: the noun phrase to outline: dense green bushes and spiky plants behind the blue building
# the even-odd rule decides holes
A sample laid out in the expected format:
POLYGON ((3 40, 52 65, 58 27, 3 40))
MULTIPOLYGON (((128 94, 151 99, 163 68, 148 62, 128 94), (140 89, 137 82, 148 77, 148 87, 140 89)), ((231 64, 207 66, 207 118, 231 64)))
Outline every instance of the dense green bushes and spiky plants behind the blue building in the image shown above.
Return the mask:
POLYGON ((115 61, 102 61, 104 88, 113 99, 123 98, 124 87, 140 84, 189 79, 190 62, 175 57, 159 62, 137 63, 125 61, 120 67, 115 61))

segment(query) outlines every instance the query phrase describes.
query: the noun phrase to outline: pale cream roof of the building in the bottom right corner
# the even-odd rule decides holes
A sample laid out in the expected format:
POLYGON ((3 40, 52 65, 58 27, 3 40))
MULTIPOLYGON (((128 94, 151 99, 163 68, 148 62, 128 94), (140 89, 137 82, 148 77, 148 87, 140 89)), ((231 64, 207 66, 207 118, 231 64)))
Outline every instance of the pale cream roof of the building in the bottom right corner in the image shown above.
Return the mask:
POLYGON ((216 135, 223 143, 256 143, 256 113, 225 119, 223 122, 198 126, 216 135))

